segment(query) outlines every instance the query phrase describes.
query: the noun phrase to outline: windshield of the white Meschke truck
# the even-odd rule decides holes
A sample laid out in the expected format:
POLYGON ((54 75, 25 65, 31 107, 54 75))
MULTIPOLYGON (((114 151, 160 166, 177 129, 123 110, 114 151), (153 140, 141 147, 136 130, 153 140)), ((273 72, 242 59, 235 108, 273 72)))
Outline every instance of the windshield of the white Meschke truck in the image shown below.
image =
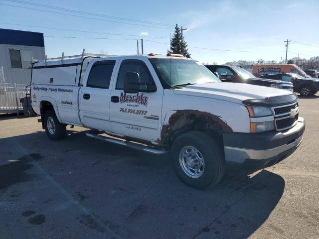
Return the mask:
POLYGON ((221 82, 197 61, 176 58, 151 58, 159 77, 169 86, 221 82))

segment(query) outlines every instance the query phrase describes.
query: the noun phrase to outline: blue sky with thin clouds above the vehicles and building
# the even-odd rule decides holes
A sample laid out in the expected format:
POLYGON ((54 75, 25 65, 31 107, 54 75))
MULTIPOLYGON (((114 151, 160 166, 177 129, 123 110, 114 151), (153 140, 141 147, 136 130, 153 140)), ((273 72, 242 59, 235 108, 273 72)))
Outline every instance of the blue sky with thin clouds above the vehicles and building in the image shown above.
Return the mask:
POLYGON ((157 25, 164 28, 133 21, 106 21, 124 22, 114 18, 88 16, 104 19, 98 20, 38 11, 23 7, 87 16, 14 1, 0 0, 0 28, 43 32, 48 57, 60 56, 62 51, 65 55, 80 54, 83 48, 90 53, 136 54, 136 39, 142 38, 141 33, 144 34, 145 53, 165 54, 169 48, 169 34, 173 33, 175 23, 187 27, 183 35, 188 43, 189 52, 200 62, 222 64, 227 61, 260 58, 280 61, 281 57, 285 58, 284 40, 287 38, 293 40, 289 45, 288 58, 296 57, 298 53, 301 58, 319 55, 319 0, 25 0, 169 25, 157 25), (136 36, 53 30, 4 23, 136 36))

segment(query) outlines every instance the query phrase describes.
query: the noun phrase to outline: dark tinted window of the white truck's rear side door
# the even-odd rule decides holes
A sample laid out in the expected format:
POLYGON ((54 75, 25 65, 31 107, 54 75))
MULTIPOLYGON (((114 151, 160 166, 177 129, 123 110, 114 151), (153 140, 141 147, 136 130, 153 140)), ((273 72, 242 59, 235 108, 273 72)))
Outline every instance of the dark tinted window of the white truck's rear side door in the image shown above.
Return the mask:
POLYGON ((98 61, 91 68, 87 87, 109 89, 115 61, 98 61))

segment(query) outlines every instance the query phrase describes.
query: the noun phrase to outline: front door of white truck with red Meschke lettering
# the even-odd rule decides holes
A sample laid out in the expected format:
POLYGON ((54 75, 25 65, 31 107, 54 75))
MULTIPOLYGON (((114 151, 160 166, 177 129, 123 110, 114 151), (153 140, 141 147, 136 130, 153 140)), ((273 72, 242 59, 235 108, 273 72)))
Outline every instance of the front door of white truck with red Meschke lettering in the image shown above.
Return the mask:
POLYGON ((110 122, 115 134, 155 142, 160 138, 163 88, 149 59, 142 59, 124 57, 119 62, 111 92, 110 122), (136 94, 125 93, 126 72, 138 73, 140 84, 155 85, 155 89, 153 92, 141 89, 136 94))

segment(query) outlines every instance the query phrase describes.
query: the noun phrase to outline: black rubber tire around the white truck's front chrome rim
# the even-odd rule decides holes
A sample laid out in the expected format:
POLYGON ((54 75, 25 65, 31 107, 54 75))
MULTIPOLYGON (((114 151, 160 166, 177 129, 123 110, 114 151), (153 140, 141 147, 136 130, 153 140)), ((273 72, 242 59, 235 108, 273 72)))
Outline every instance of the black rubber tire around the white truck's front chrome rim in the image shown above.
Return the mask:
MULTIPOLYGON (((190 187, 196 189, 211 188, 219 183, 224 175, 225 158, 221 147, 212 137, 203 132, 189 131, 178 136, 173 142, 171 153, 177 176, 190 187), (184 149, 187 149, 187 146, 197 149, 201 156, 199 158, 204 160, 204 169, 202 174, 197 178, 187 175, 187 171, 189 174, 189 170, 185 169, 185 166, 182 166, 182 164, 187 165, 186 157, 181 156, 181 160, 179 157, 181 151, 185 152, 184 149)), ((190 172, 190 174, 192 173, 190 172)))

